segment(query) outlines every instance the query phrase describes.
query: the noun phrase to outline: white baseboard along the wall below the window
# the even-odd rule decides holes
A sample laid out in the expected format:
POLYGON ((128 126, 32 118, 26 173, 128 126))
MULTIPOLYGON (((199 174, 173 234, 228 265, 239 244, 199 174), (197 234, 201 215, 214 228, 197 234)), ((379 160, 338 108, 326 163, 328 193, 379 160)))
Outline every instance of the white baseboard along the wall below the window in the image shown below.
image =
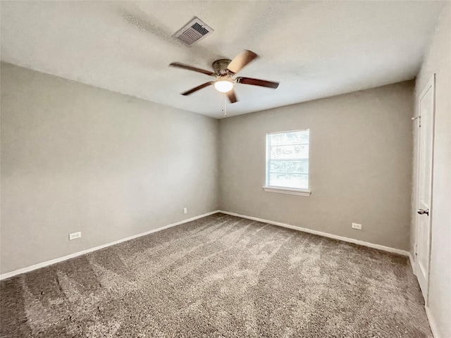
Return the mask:
POLYGON ((368 246, 369 248, 387 251, 387 252, 391 252, 391 253, 397 253, 398 255, 402 255, 402 256, 409 256, 409 252, 400 250, 400 249, 390 248, 390 246, 383 246, 381 244, 373 244, 373 243, 369 243, 369 242, 363 242, 363 241, 359 241, 357 239, 352 239, 349 237, 338 236, 336 234, 328 234, 327 232, 310 230, 305 227, 295 227, 294 225, 289 225, 289 224, 280 223, 280 222, 274 222, 273 220, 264 220, 263 218, 257 218, 257 217, 247 216, 247 215, 240 215, 239 213, 230 213, 229 211, 221 210, 219 212, 226 213, 227 215, 233 215, 233 216, 237 216, 237 217, 247 218, 249 220, 257 220, 257 221, 263 222, 263 223, 278 225, 279 227, 288 227, 288 229, 294 229, 294 230, 299 230, 302 232, 308 232, 309 234, 318 234, 319 236, 328 237, 328 238, 332 238, 332 239, 338 239, 343 242, 349 242, 349 243, 358 244, 358 245, 362 245, 362 246, 368 246))

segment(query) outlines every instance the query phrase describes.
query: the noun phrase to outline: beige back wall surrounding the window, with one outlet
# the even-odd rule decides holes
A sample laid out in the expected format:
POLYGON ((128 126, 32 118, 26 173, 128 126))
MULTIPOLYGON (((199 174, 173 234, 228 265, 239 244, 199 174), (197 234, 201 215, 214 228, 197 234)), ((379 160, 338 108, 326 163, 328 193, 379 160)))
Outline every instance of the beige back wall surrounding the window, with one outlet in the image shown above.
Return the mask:
POLYGON ((402 82, 221 120, 221 209, 408 250, 413 88, 402 82), (265 192, 265 134, 306 128, 311 196, 265 192))

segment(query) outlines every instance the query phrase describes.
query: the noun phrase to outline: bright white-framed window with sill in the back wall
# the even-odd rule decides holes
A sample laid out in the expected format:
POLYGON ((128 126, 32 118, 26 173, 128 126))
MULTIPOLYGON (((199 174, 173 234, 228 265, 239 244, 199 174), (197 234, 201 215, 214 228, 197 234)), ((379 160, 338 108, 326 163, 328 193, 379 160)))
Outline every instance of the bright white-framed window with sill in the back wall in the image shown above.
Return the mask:
POLYGON ((308 196, 309 130, 266 134, 267 192, 308 196))

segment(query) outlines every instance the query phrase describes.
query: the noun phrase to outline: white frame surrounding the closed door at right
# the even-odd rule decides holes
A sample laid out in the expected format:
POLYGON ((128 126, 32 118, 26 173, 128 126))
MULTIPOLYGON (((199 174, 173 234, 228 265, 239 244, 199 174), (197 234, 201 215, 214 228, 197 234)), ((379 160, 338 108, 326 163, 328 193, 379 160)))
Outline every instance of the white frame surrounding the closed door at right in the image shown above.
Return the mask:
MULTIPOLYGON (((428 245, 428 272, 427 272, 427 276, 426 276, 426 292, 424 294, 424 305, 427 307, 428 306, 428 296, 429 296, 429 283, 430 283, 430 275, 431 275, 431 246, 432 246, 432 234, 433 234, 433 223, 432 223, 432 215, 433 215, 433 177, 434 177, 434 139, 435 139, 435 92, 436 92, 436 88, 435 88, 435 73, 433 73, 433 75, 431 76, 431 79, 429 79, 428 83, 426 84, 426 86, 424 87, 424 89, 421 91, 421 94, 419 96, 418 99, 418 137, 417 137, 417 142, 416 142, 416 195, 415 195, 415 201, 414 201, 414 215, 415 215, 415 244, 414 244, 414 266, 412 267, 414 270, 414 274, 416 275, 417 271, 418 271, 418 259, 416 257, 417 252, 416 252, 416 248, 418 247, 418 242, 419 242, 419 235, 418 235, 418 227, 419 227, 419 221, 418 221, 418 215, 416 214, 416 211, 419 208, 419 204, 418 204, 418 200, 419 200, 419 189, 420 189, 420 184, 419 184, 419 180, 420 180, 420 143, 421 143, 421 99, 424 97, 424 95, 426 94, 426 92, 428 92, 428 89, 430 89, 432 87, 433 89, 433 111, 432 111, 432 154, 431 154, 431 201, 429 202, 430 206, 429 206, 429 245, 428 245)), ((418 275, 416 275, 416 277, 418 278, 418 275)))

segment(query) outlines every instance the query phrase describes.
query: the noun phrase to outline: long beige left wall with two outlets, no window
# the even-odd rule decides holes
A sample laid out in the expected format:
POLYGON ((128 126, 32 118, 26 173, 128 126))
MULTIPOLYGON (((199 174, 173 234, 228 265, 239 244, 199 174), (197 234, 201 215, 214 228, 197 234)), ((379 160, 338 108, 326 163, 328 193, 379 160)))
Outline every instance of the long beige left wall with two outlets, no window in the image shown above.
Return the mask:
POLYGON ((212 118, 1 63, 1 273, 216 210, 217 137, 212 118))

